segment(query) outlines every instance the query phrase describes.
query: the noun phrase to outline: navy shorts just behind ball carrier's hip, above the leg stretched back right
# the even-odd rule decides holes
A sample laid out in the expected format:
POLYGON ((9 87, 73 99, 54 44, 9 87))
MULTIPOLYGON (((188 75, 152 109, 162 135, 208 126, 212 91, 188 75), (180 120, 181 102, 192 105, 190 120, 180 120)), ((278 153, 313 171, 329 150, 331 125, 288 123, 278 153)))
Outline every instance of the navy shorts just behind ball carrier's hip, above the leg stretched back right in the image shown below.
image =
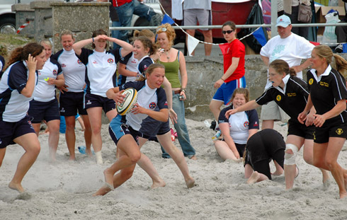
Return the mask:
POLYGON ((152 117, 146 117, 141 124, 140 131, 141 137, 149 139, 149 137, 154 137, 156 135, 166 134, 170 132, 169 120, 167 122, 160 122, 154 120, 152 117))

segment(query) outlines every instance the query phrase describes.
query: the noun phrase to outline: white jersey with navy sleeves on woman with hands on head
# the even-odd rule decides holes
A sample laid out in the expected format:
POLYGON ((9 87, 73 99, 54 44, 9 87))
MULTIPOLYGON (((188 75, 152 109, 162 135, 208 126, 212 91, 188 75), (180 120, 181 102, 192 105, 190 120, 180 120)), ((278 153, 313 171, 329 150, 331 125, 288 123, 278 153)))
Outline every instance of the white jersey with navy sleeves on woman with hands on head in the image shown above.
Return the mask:
POLYGON ((115 74, 117 63, 120 59, 124 59, 120 50, 96 52, 82 48, 78 57, 86 65, 86 93, 106 98, 106 91, 117 85, 115 74))

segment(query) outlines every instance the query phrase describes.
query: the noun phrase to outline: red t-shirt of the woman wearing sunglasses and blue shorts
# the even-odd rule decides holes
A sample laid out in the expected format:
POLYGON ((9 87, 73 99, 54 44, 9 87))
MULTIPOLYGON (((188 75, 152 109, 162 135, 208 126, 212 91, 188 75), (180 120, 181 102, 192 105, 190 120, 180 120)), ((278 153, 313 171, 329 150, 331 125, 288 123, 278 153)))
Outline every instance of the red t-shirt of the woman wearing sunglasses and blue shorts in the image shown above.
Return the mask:
POLYGON ((235 69, 232 76, 229 76, 224 82, 229 82, 235 79, 240 79, 244 76, 244 55, 246 54, 244 50, 244 44, 241 43, 238 39, 233 40, 230 43, 227 43, 229 47, 226 48, 225 54, 223 55, 224 59, 224 74, 229 69, 229 66, 232 65, 232 57, 239 57, 239 65, 235 69))

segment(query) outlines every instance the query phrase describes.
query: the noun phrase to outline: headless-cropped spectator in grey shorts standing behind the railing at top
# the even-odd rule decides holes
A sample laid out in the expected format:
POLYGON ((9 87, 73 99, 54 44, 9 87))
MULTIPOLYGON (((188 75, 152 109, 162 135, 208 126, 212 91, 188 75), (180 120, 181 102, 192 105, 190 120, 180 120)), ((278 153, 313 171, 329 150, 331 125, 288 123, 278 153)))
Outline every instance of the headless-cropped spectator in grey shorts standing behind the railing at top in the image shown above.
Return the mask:
MULTIPOLYGON (((183 1, 183 24, 184 25, 212 25, 211 0, 186 0, 183 1)), ((205 42, 212 43, 212 29, 200 29, 205 42)), ((187 29, 186 32, 193 36, 195 29, 187 29)), ((212 45, 205 44, 205 56, 210 56, 212 45)), ((192 53, 194 55, 194 52, 192 53)))

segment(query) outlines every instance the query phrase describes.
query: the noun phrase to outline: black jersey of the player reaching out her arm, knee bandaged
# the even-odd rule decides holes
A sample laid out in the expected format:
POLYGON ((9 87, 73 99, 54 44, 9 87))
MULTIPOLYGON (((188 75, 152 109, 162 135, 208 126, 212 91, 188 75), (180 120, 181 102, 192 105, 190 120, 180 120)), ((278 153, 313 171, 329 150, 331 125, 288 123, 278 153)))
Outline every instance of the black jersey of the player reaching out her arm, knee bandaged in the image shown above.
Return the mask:
POLYGON ((305 109, 309 96, 307 83, 296 76, 289 75, 285 76, 283 81, 285 82, 284 90, 279 86, 271 86, 256 99, 256 103, 265 105, 274 100, 291 117, 291 120, 297 121, 297 115, 305 109))

